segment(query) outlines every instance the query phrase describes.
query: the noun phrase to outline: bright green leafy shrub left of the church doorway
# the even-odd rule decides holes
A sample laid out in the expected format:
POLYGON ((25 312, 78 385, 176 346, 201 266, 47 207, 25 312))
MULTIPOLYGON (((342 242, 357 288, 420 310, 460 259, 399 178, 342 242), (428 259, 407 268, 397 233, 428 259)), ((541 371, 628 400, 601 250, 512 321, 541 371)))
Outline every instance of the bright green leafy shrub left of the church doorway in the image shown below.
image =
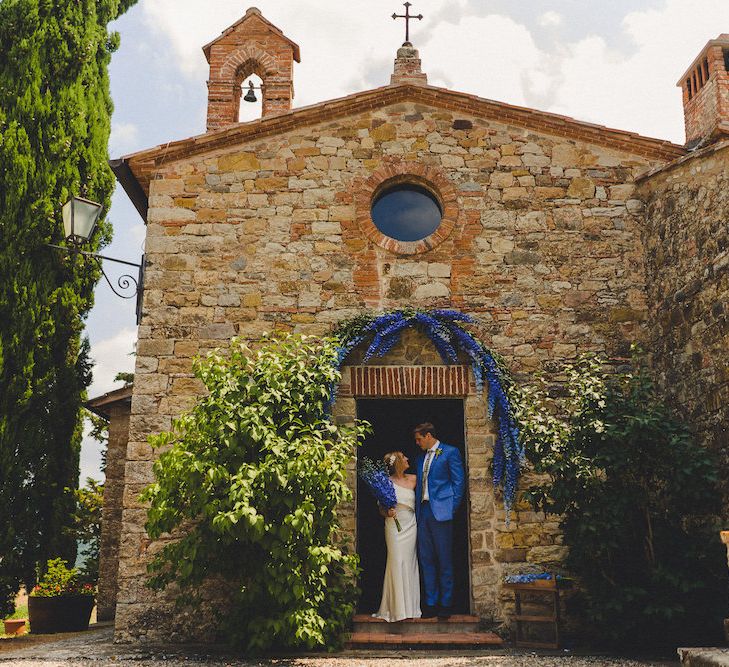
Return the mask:
POLYGON ((351 500, 346 466, 366 426, 326 413, 340 376, 335 342, 233 340, 229 356, 196 362, 208 395, 151 438, 147 532, 176 533, 150 566, 150 586, 175 582, 195 602, 211 575, 232 599, 221 635, 248 651, 336 646, 357 598, 357 556, 337 541, 337 507, 351 500))

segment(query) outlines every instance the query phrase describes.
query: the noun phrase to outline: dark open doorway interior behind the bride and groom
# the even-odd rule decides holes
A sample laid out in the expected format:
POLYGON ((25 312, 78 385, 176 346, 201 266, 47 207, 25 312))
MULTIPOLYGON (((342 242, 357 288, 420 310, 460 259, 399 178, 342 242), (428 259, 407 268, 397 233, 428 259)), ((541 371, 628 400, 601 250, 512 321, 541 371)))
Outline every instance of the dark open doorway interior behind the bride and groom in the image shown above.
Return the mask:
MULTIPOLYGON (((413 466, 420 450, 413 440, 413 427, 429 421, 435 425, 439 440, 458 447, 463 464, 466 465, 462 399, 358 399, 357 416, 366 419, 373 427, 372 434, 359 449, 360 457, 379 459, 389 451, 400 450, 410 459, 411 469, 408 472, 415 473, 413 466)), ((380 606, 387 550, 383 519, 377 512, 372 495, 359 479, 357 499, 357 553, 362 567, 362 594, 358 610, 371 614, 380 606)), ((467 507, 468 489, 453 526, 453 606, 457 614, 468 614, 471 611, 467 507)))

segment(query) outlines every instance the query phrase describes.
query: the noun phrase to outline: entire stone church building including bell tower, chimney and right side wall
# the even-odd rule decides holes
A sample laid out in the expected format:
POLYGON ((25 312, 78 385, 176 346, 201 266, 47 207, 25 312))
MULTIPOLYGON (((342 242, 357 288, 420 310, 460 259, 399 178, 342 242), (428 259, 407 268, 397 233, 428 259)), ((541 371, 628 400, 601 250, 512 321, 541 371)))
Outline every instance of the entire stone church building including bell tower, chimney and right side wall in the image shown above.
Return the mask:
MULTIPOLYGON (((429 86, 410 45, 389 85, 292 109, 299 47, 256 9, 204 51, 207 132, 113 162, 147 223, 128 439, 110 443, 125 463, 105 508, 121 516, 102 555, 118 640, 194 636, 169 597, 144 587, 157 546, 138 496, 152 481, 147 437, 202 391, 193 358, 233 336, 323 335, 365 309, 457 308, 524 381, 639 342, 697 437, 725 447, 729 35, 680 82, 686 146, 429 86), (238 123, 253 73, 263 116, 238 123), (372 220, 373 200, 399 184, 438 201, 442 220, 423 239, 398 241, 372 220)), ((489 482, 494 425, 468 369, 443 366, 411 332, 376 363, 348 360, 335 416, 354 419, 362 399, 424 397, 463 401, 469 610, 506 620, 503 575, 559 562, 566 547, 527 507, 505 524, 489 482)), ((356 500, 343 521, 356 538, 356 500)))

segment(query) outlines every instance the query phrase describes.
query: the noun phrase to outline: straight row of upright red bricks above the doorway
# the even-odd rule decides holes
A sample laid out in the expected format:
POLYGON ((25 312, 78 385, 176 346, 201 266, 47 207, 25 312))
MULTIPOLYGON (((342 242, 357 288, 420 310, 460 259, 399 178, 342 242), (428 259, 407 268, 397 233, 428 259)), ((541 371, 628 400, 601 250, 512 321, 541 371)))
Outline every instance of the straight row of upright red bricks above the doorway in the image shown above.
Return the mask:
POLYGON ((350 384, 340 386, 339 395, 379 396, 467 396, 470 393, 468 366, 350 366, 350 384))

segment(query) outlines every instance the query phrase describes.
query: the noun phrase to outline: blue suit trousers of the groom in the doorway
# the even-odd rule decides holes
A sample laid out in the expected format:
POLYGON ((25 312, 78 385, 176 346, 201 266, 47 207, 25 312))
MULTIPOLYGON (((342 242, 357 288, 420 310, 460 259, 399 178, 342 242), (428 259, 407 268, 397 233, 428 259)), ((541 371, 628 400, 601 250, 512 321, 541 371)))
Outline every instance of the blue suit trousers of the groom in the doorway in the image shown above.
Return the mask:
POLYGON ((430 503, 418 516, 418 559, 425 588, 425 604, 450 607, 453 603, 453 521, 437 521, 430 503))

